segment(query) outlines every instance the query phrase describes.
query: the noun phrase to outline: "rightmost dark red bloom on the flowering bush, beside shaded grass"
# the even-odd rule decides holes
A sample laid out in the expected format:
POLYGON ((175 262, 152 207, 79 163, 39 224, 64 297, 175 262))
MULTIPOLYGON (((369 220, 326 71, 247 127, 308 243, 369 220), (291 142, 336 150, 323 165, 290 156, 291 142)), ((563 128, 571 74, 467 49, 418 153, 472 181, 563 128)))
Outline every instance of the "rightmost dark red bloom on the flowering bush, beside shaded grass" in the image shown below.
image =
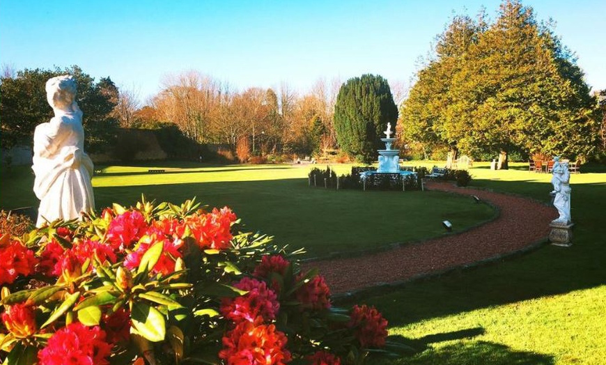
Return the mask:
POLYGON ((385 345, 387 320, 374 306, 354 306, 348 327, 354 329, 355 336, 363 348, 385 345))

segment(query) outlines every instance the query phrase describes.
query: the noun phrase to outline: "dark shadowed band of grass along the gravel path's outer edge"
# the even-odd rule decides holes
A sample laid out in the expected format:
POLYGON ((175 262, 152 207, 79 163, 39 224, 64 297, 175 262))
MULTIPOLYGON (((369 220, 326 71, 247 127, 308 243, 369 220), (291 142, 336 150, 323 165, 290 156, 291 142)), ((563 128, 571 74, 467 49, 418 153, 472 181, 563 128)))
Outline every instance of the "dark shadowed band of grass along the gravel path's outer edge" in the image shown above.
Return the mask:
MULTIPOLYGON (((474 185, 495 192, 520 192, 547 201, 549 183, 509 183, 474 180, 474 185)), ((547 244, 523 256, 496 265, 457 270, 443 277, 403 284, 368 293, 363 301, 378 307, 390 326, 426 318, 559 295, 606 284, 606 189, 603 184, 573 185, 573 246, 547 244), (377 295, 372 296, 374 293, 377 295)), ((359 300, 359 296, 355 299, 359 300)), ((343 300, 343 304, 347 304, 343 300)))

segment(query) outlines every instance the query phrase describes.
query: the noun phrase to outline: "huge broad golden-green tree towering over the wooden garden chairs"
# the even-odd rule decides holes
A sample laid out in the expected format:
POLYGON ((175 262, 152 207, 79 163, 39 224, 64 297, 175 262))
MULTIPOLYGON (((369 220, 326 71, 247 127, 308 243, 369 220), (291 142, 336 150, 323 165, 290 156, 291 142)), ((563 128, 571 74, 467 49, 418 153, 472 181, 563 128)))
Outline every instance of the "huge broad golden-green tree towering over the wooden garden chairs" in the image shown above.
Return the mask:
POLYGON ((575 62, 519 1, 504 1, 490 25, 456 17, 401 109, 405 137, 499 153, 501 168, 511 150, 587 156, 597 145, 596 100, 575 62), (457 45, 465 34, 470 42, 457 45), (440 48, 444 41, 453 47, 440 48))

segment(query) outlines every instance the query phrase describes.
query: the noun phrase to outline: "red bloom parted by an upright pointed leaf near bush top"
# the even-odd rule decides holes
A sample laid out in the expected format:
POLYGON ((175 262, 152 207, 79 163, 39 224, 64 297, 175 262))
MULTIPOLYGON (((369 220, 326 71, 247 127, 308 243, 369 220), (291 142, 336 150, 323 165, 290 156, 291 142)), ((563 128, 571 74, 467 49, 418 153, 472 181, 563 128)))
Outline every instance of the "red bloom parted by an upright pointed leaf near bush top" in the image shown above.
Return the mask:
POLYGON ((159 232, 144 236, 134 251, 126 256, 124 266, 131 270, 139 267, 141 258, 143 258, 143 255, 155 242, 163 242, 163 248, 162 255, 160 255, 160 259, 158 259, 152 271, 155 273, 162 272, 164 275, 174 272, 175 262, 178 257, 181 257, 179 248, 182 242, 180 240, 171 242, 170 240, 164 238, 164 235, 159 232))

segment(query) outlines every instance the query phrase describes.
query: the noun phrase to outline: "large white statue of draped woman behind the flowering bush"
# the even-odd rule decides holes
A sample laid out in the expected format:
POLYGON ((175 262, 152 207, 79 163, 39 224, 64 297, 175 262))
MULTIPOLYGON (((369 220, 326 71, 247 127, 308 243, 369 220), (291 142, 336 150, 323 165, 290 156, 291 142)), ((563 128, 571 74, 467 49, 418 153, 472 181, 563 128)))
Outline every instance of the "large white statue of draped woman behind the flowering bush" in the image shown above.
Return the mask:
POLYGON ((33 192, 40 199, 38 222, 75 219, 94 209, 93 162, 84 153, 82 111, 76 102, 76 81, 70 75, 46 83, 55 116, 33 134, 33 192))

